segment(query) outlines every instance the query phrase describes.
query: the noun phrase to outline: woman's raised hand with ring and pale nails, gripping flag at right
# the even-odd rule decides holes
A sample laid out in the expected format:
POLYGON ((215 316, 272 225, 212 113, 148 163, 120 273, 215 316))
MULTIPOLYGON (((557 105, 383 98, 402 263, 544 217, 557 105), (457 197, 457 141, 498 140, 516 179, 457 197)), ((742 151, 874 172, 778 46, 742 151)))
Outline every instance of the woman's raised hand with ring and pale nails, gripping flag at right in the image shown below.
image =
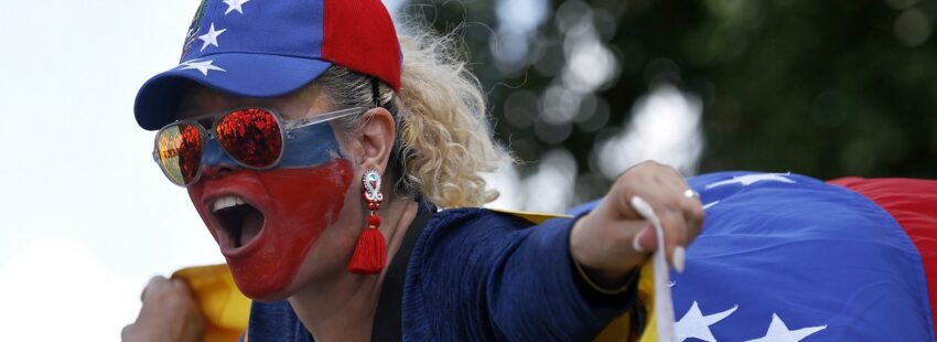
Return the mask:
POLYGON ((603 288, 624 285, 631 271, 657 249, 657 234, 631 205, 640 196, 660 217, 667 259, 678 271, 686 247, 702 228, 699 196, 677 170, 646 161, 625 171, 595 209, 580 218, 570 233, 570 252, 586 276, 603 288))

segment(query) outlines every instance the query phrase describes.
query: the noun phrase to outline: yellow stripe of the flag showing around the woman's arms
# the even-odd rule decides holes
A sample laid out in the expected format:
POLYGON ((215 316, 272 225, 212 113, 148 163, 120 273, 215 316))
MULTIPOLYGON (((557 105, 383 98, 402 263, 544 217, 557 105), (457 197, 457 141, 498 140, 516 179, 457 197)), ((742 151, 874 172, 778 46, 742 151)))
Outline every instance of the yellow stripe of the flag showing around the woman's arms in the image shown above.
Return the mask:
MULTIPOLYGON (((569 217, 505 210, 493 211, 519 216, 535 224, 554 217, 569 217)), ((654 329, 657 322, 654 318, 654 270, 650 266, 651 264, 648 261, 642 267, 640 277, 637 280, 638 301, 639 304, 645 306, 648 318, 644 327, 644 334, 637 340, 640 342, 657 341, 657 331, 654 329)), ((189 267, 177 270, 172 276, 185 280, 192 288, 196 302, 205 316, 205 342, 237 341, 241 333, 247 330, 247 322, 250 317, 250 299, 237 289, 227 265, 189 267)), ((602 330, 595 341, 627 341, 631 335, 629 322, 628 313, 616 318, 602 330)), ((247 341, 246 336, 245 341, 247 341)))

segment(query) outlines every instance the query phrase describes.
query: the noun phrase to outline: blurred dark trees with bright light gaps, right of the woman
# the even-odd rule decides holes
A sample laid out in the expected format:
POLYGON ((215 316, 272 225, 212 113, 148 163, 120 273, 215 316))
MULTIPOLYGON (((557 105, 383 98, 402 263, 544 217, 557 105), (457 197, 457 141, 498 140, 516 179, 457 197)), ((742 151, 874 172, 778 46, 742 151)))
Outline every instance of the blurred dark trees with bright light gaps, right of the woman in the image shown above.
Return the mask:
POLYGON ((599 197, 645 159, 937 177, 934 1, 411 3, 465 38, 498 138, 529 161, 507 206, 599 197))

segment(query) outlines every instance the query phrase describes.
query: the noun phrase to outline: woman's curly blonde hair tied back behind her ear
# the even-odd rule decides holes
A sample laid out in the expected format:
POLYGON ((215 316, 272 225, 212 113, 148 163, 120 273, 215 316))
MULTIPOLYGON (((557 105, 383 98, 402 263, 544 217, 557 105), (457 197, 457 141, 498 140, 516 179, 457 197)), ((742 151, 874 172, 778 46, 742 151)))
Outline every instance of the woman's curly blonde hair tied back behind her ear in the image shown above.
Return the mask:
MULTIPOLYGON (((379 85, 380 105, 395 116, 397 142, 390 170, 395 192, 421 194, 442 207, 481 206, 498 196, 481 172, 513 160, 494 141, 478 79, 461 58, 460 40, 424 26, 400 35, 403 54, 398 94, 379 85)), ((374 105, 373 78, 332 66, 315 84, 338 107, 374 105)), ((344 122, 354 127, 357 118, 344 122)))

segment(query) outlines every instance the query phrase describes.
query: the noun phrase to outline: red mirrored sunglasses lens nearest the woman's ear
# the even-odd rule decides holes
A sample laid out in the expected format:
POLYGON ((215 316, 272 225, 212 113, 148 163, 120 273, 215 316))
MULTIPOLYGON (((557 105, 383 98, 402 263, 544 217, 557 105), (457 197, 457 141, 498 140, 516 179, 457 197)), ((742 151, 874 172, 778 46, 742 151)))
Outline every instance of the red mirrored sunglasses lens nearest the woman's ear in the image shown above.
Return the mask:
POLYGON ((272 167, 283 150, 277 118, 261 108, 239 109, 222 117, 215 136, 231 158, 252 168, 272 167))

